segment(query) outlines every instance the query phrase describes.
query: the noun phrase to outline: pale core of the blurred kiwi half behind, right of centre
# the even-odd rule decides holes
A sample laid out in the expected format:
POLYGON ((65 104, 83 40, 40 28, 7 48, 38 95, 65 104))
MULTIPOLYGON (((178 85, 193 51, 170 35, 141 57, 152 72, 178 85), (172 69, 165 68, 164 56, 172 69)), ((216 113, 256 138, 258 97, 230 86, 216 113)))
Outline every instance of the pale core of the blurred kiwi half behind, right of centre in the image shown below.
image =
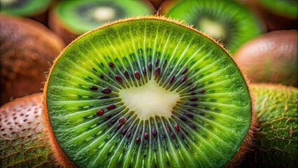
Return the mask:
POLYGON ((217 40, 225 38, 225 28, 222 24, 209 18, 201 18, 199 29, 217 40))

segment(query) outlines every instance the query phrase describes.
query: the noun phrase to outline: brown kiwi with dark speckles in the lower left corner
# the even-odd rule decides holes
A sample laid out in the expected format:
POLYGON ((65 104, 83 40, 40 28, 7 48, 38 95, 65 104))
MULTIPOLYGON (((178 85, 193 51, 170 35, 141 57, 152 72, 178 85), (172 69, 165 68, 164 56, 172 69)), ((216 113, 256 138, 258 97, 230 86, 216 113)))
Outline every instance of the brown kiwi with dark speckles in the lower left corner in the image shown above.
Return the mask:
POLYGON ((0 167, 55 167, 41 119, 42 94, 0 108, 0 167))

